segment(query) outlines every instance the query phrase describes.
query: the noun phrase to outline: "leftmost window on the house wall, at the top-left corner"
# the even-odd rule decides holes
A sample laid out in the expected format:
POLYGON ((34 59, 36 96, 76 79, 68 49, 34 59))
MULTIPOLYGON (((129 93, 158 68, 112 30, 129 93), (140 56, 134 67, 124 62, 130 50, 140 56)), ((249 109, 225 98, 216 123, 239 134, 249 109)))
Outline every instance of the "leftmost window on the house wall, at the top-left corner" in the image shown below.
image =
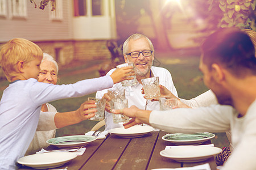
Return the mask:
POLYGON ((27 16, 27 0, 11 0, 11 15, 27 16))

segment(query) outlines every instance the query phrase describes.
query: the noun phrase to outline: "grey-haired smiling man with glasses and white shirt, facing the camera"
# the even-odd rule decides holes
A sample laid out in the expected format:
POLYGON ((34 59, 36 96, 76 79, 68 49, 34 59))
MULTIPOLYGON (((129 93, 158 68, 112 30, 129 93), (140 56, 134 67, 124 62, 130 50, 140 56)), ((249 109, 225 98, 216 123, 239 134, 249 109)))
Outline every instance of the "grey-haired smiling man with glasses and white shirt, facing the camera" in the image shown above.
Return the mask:
MULTIPOLYGON (((142 79, 150 78, 153 76, 159 77, 159 83, 165 86, 177 97, 177 91, 172 82, 172 76, 167 69, 162 67, 152 66, 154 61, 154 46, 148 37, 136 33, 131 35, 123 43, 123 56, 125 62, 132 62, 135 66, 135 75, 137 77, 137 84, 130 87, 122 87, 121 83, 114 84, 114 90, 121 90, 125 88, 126 99, 128 99, 129 107, 135 105, 139 109, 147 110, 159 110, 158 101, 151 102, 144 99, 144 95, 141 93, 142 79)), ((111 75, 115 69, 112 69, 107 73, 111 75)), ((98 91, 96 98, 108 97, 106 94, 108 90, 98 91), (105 95, 104 95, 105 94, 105 95)), ((114 124, 112 114, 109 113, 109 108, 106 107, 105 112, 105 130, 122 127, 122 125, 114 124)))

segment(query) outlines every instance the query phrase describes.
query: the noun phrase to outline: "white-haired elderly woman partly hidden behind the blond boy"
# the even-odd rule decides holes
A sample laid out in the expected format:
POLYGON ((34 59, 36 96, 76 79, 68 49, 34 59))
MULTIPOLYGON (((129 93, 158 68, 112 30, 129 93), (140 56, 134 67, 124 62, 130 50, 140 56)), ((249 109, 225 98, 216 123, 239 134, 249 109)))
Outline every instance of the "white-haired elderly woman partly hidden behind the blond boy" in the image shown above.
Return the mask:
MULTIPOLYGON (((40 73, 38 75, 38 82, 43 83, 57 83, 57 74, 59 67, 57 62, 47 53, 44 53, 42 63, 40 64, 40 73)), ((64 126, 77 124, 83 120, 87 120, 90 117, 93 117, 96 109, 94 104, 95 101, 85 101, 81 104, 80 108, 72 112, 58 113, 49 103, 42 105, 40 118, 38 122, 38 128, 36 129, 35 136, 28 147, 26 155, 35 154, 36 151, 46 148, 48 144, 46 141, 48 139, 55 137, 55 132, 57 128, 63 128, 64 126)))

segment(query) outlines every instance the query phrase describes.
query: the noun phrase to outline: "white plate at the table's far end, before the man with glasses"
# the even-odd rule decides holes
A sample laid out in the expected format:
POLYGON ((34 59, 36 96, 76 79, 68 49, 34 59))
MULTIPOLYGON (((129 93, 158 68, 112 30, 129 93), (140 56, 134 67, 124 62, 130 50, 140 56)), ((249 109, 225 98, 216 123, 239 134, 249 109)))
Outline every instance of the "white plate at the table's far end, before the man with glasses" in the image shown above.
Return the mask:
POLYGON ((115 128, 108 130, 109 133, 115 134, 122 138, 137 138, 154 131, 151 126, 132 126, 131 128, 115 128))

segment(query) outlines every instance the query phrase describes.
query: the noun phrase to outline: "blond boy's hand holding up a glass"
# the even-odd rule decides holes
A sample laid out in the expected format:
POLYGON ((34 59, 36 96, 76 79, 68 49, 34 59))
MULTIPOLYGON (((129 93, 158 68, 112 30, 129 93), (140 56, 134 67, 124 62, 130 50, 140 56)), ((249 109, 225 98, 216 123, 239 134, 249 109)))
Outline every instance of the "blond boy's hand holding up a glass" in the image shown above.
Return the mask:
POLYGON ((132 80, 134 79, 134 77, 132 77, 133 75, 135 75, 133 67, 128 66, 115 70, 110 76, 115 84, 122 82, 123 80, 132 80))

